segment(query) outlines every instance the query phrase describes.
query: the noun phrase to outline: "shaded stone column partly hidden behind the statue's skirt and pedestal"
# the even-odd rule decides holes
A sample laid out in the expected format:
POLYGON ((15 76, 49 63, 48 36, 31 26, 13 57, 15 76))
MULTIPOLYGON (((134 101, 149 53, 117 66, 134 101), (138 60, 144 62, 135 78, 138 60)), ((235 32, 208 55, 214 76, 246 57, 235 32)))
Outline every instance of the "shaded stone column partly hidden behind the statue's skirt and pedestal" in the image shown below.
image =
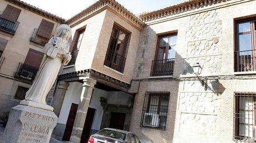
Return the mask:
POLYGON ((63 104, 63 100, 69 85, 70 84, 65 81, 59 81, 57 84, 57 88, 52 101, 53 112, 57 116, 60 115, 61 106, 63 104))

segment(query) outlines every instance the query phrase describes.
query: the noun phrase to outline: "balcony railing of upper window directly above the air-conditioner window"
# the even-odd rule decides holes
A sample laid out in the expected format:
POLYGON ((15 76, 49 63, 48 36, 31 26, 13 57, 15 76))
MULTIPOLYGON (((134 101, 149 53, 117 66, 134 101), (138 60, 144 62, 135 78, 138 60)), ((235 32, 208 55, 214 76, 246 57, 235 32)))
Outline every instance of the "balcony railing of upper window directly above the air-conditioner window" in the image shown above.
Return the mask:
POLYGON ((174 59, 153 60, 150 76, 173 75, 174 59))

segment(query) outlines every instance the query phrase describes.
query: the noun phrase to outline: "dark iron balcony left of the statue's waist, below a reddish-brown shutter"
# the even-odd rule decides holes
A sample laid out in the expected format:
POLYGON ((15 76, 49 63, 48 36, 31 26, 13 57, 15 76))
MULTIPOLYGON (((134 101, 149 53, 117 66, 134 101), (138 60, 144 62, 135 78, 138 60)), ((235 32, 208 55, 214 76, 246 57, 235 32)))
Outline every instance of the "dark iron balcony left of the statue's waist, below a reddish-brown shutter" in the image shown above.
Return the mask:
POLYGON ((14 76, 16 78, 22 78, 22 79, 33 81, 36 77, 37 71, 38 71, 37 67, 33 67, 32 65, 28 65, 28 64, 19 63, 17 72, 15 73, 14 76))

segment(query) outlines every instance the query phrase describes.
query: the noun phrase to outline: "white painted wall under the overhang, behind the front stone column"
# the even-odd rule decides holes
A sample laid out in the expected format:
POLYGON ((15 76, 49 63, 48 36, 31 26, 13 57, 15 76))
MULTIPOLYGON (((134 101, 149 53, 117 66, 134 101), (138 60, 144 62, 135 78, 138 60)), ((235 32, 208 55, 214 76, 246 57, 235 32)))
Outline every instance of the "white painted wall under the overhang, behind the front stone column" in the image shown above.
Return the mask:
MULTIPOLYGON (((68 86, 65 98, 63 100, 63 104, 61 107, 60 116, 58 118, 58 123, 66 124, 68 114, 70 113, 71 104, 79 104, 80 96, 82 92, 82 83, 72 82, 70 86, 68 86)), ((93 130, 100 130, 101 119, 103 115, 103 108, 100 105, 100 98, 104 97, 107 99, 108 104, 127 104, 129 97, 131 94, 124 93, 122 91, 105 91, 101 89, 95 88, 93 90, 91 103, 89 105, 90 108, 96 109, 94 119, 92 122, 93 130)))

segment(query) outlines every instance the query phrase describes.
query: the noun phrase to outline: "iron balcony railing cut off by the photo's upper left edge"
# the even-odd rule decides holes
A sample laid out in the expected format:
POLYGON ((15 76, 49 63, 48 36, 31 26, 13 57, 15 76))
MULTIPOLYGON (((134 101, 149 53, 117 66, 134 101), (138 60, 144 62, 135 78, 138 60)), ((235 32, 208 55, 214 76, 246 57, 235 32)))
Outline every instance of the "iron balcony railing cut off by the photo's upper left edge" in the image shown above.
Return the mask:
POLYGON ((0 29, 4 30, 5 32, 15 34, 16 29, 18 28, 19 22, 11 22, 6 19, 3 19, 2 16, 0 16, 0 29))

